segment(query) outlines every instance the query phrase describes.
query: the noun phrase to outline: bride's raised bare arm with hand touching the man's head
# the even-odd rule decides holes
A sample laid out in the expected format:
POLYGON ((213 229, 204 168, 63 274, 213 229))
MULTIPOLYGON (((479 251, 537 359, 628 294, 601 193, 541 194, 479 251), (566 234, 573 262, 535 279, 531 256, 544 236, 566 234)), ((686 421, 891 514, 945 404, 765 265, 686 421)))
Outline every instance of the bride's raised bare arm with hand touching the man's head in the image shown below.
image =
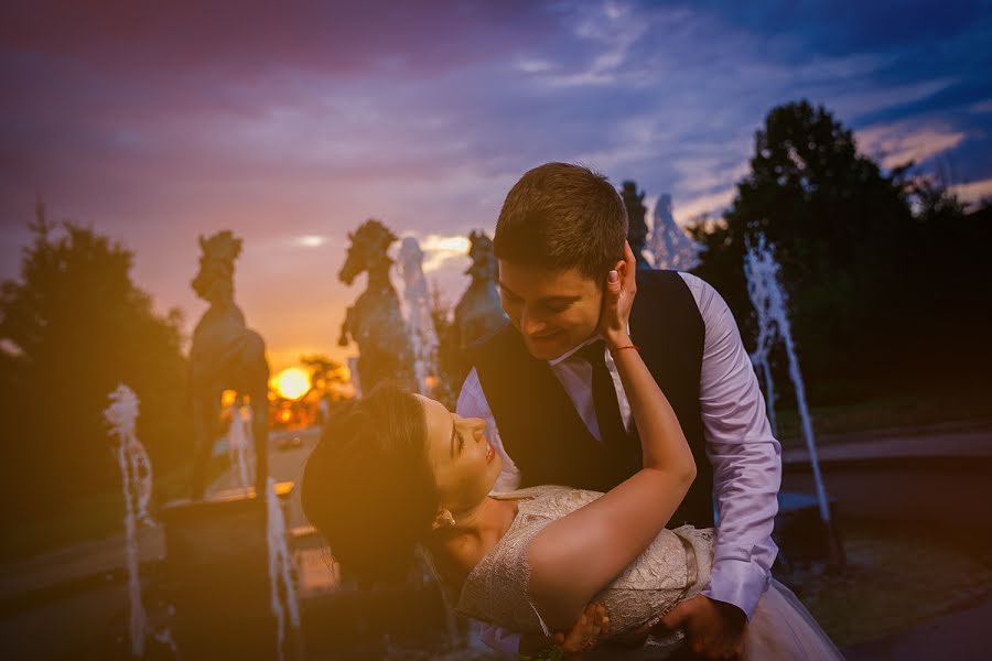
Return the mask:
POLYGON ((636 286, 625 250, 622 282, 607 282, 600 321, 640 435, 644 468, 602 498, 551 522, 530 542, 530 598, 552 630, 564 630, 630 565, 668 523, 696 479, 696 463, 678 418, 640 355, 627 319, 636 286))

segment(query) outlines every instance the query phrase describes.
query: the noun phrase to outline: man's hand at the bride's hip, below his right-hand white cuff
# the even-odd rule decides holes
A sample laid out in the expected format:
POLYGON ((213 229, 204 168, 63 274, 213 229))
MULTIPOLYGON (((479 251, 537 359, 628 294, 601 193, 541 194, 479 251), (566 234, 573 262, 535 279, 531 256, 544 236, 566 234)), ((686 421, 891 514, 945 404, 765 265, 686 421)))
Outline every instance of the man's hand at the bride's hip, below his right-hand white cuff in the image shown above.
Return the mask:
POLYGON ((697 595, 661 618, 659 633, 682 629, 689 649, 701 659, 737 659, 744 651, 747 618, 733 604, 697 595))

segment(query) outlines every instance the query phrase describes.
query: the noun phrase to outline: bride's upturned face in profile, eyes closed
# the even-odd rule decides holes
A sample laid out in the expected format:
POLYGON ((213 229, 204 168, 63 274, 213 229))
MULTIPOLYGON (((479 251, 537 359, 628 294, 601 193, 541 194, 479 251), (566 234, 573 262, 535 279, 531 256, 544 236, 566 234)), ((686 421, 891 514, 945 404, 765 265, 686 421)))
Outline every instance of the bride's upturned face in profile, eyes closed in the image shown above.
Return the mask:
POLYGON ((457 517, 486 498, 499 477, 503 462, 486 441, 485 421, 461 418, 440 402, 414 397, 423 407, 428 459, 441 507, 457 517))

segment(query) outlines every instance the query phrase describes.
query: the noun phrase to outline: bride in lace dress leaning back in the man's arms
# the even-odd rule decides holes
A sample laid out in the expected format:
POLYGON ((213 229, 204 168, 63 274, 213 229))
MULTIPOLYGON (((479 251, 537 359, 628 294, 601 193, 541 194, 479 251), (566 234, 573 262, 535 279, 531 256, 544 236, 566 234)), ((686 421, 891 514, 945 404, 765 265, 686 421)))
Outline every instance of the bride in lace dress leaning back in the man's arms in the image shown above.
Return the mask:
MULTIPOLYGON (((532 648, 548 648, 542 658, 563 658, 552 632, 592 622, 602 615, 587 609, 592 603, 606 614, 593 633, 610 641, 648 630, 707 586, 714 531, 665 528, 696 465, 627 335, 634 273, 632 266, 619 282, 611 272, 600 333, 630 401, 643 468, 607 494, 558 486, 490 494, 500 458, 482 420, 379 388, 327 427, 303 477, 306 517, 343 572, 359 583, 401 579, 419 545, 456 610, 527 635, 532 648)), ((677 639, 653 637, 634 658, 664 658, 677 639)), ((788 588, 772 581, 748 622, 743 658, 841 655, 788 588)))

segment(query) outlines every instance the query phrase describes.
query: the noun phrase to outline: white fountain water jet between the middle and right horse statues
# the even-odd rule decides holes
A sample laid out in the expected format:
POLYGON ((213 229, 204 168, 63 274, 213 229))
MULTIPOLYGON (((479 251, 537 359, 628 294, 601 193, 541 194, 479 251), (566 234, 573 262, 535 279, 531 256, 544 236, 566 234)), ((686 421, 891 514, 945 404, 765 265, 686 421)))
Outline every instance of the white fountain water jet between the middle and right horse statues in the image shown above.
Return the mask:
POLYGON ((400 243, 397 268, 403 279, 403 299, 409 315, 407 334, 413 350, 413 376, 417 391, 433 397, 438 380, 438 329, 431 317, 431 302, 427 280, 423 277, 423 250, 413 237, 400 243))

